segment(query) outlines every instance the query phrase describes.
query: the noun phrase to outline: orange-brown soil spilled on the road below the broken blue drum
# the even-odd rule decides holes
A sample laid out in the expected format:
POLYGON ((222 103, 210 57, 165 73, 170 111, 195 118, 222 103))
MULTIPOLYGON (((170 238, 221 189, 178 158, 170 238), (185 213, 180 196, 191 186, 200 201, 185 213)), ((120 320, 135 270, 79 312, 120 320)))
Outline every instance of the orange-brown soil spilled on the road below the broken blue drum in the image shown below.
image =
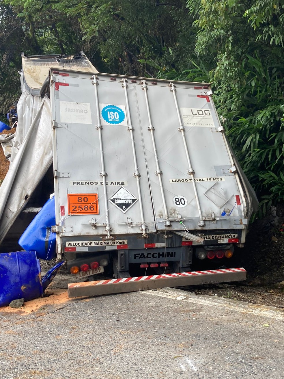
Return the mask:
POLYGON ((31 313, 36 312, 37 316, 44 316, 47 312, 47 306, 64 304, 74 299, 68 298, 67 290, 53 290, 45 291, 44 298, 37 298, 34 300, 26 301, 21 308, 2 307, 0 313, 31 313))

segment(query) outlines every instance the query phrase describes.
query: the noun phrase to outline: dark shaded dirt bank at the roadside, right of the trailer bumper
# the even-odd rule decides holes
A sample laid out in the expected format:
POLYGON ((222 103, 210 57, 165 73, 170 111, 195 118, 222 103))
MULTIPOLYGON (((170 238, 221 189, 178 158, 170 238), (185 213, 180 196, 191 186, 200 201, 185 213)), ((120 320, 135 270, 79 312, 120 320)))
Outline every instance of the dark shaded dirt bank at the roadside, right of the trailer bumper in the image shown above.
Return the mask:
POLYGON ((247 270, 245 282, 192 286, 188 290, 284 311, 284 204, 272 207, 264 219, 250 225, 245 247, 235 250, 233 262, 235 267, 247 270))

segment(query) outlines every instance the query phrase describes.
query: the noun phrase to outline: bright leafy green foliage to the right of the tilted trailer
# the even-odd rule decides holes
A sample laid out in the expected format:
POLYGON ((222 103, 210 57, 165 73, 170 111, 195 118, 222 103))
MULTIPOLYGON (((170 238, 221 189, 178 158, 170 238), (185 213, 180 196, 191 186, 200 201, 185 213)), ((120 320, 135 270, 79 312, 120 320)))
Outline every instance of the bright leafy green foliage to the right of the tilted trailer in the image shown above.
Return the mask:
POLYGON ((208 52, 214 57, 214 100, 262 214, 284 199, 284 3, 274 5, 187 1, 191 14, 198 7, 195 49, 203 61, 208 52))

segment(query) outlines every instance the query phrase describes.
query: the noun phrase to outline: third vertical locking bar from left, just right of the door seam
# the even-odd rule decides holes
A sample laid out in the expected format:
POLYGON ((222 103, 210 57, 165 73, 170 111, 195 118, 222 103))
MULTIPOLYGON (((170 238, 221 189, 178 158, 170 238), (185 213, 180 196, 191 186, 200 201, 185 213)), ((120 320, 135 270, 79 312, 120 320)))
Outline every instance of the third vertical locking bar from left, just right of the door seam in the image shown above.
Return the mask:
POLYGON ((159 158, 158 158, 157 147, 156 147, 155 138, 154 138, 154 130, 155 129, 152 125, 150 106, 149 106, 149 101, 148 101, 148 96, 147 96, 147 89, 148 88, 147 88, 146 80, 142 80, 141 83, 143 83, 141 88, 143 89, 144 94, 145 94, 145 101, 146 101, 146 107, 147 107, 147 113, 148 113, 148 120, 149 120, 148 130, 151 133, 153 150, 154 150, 154 157, 155 157, 155 161, 156 161, 156 169, 157 170, 155 171, 155 174, 158 176, 158 179, 159 179, 162 202, 163 202, 163 207, 164 207, 164 212, 165 212, 165 223, 164 224, 165 224, 165 226, 169 227, 169 226, 172 226, 172 223, 170 222, 170 220, 168 220, 169 215, 168 215, 167 205, 165 202, 164 187, 163 187, 163 183, 162 183, 162 171, 161 171, 160 166, 159 166, 159 158))

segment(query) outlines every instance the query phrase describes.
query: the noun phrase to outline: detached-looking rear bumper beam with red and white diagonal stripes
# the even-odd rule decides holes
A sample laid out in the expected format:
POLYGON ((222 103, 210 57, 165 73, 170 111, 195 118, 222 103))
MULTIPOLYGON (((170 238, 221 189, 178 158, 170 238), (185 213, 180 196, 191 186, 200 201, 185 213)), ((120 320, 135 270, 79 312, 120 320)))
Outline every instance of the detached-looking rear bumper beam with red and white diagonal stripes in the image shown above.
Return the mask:
POLYGON ((226 268, 220 270, 190 271, 163 275, 138 276, 133 278, 97 280, 68 284, 69 298, 78 296, 95 296, 111 293, 123 293, 154 288, 179 287, 206 283, 221 283, 245 280, 244 268, 226 268))

